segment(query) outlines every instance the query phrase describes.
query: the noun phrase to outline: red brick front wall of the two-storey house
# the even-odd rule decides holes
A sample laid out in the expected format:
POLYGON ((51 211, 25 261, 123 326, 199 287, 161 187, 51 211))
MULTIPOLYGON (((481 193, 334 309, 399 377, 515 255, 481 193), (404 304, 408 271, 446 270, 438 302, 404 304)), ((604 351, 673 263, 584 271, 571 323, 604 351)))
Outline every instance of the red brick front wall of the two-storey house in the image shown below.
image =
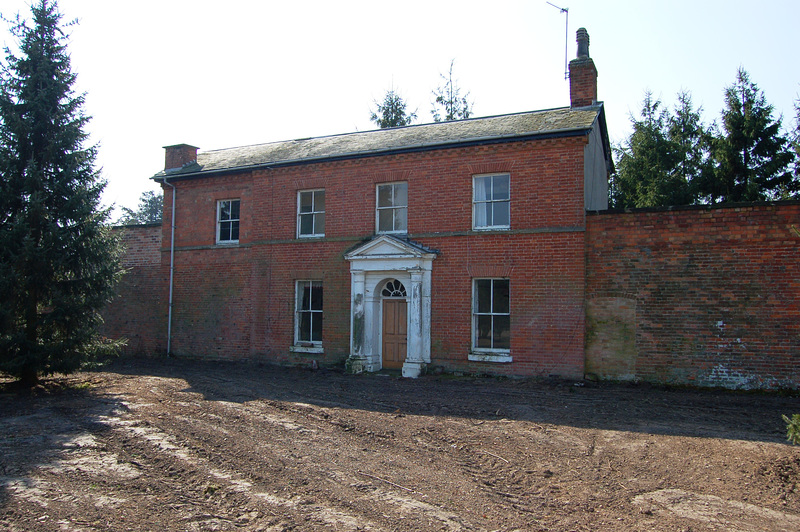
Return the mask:
MULTIPOLYGON (((172 350, 294 363, 295 280, 325 287, 324 364, 349 354, 350 264, 375 234, 376 183, 408 182, 409 236, 433 263, 432 364, 480 373, 583 374, 585 138, 326 162, 173 182, 172 350), (473 232, 472 176, 511 175, 511 230, 473 232), (296 238, 297 191, 325 188, 325 238, 296 238), (216 200, 241 198, 240 243, 215 244, 216 200), (510 278, 513 362, 472 363, 471 279, 510 278)), ((164 219, 172 190, 165 187, 164 219)), ((168 247, 169 227, 164 242, 168 247)), ((168 260, 168 257, 167 257, 168 260)))

